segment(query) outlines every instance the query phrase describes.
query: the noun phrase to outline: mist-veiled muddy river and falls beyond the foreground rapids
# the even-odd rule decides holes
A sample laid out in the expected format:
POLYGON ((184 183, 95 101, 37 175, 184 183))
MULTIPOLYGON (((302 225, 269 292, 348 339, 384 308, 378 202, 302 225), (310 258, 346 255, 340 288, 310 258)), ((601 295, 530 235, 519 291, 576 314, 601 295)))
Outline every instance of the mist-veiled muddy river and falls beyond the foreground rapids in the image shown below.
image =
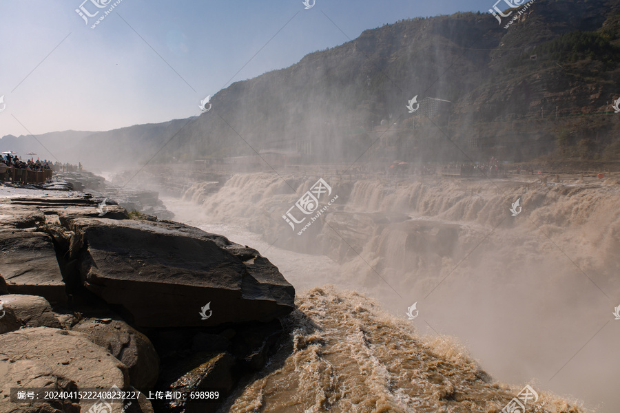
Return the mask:
POLYGON ((238 174, 163 201, 175 220, 256 248, 298 295, 325 284, 361 293, 418 335, 466 348, 498 381, 616 412, 617 182, 530 181, 335 184, 340 198, 301 235, 282 215, 316 178, 293 193, 278 176, 238 174))

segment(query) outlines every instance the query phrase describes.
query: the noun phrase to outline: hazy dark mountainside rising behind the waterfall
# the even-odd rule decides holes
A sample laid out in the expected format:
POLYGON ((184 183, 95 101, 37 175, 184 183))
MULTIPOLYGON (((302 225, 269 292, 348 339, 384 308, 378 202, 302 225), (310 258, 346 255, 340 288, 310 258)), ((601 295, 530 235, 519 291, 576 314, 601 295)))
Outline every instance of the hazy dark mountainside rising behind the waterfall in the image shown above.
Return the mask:
POLYGON ((537 0, 508 29, 488 13, 409 19, 233 83, 198 118, 96 133, 78 147, 98 164, 273 149, 299 162, 617 160, 619 62, 618 0, 537 0))

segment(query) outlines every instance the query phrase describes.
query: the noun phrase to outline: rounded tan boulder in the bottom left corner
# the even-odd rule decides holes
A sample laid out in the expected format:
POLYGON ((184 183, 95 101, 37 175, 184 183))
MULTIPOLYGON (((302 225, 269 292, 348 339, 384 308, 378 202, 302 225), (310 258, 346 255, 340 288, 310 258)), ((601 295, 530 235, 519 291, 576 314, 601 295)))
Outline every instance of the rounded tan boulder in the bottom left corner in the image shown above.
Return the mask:
MULTIPOLYGON (((49 327, 0 335, 0 372, 6 372, 0 374, 0 397, 9 394, 10 388, 48 387, 43 381, 37 381, 41 375, 48 377, 52 385, 67 387, 72 384, 74 390, 99 388, 103 391, 114 385, 118 388, 130 385, 127 367, 86 335, 49 327)), ((94 402, 82 400, 81 411, 86 412, 94 402)), ((2 404, 8 412, 20 411, 15 403, 6 401, 6 397, 2 404)), ((122 406, 119 403, 114 406, 114 412, 120 412, 122 406)))

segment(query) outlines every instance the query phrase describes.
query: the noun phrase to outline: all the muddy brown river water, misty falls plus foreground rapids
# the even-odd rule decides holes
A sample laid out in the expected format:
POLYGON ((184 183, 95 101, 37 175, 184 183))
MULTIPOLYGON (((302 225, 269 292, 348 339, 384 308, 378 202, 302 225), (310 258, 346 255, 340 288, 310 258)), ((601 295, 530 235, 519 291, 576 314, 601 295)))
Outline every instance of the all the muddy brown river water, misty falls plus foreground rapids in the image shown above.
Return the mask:
POLYGON ((318 177, 238 174, 165 199, 178 220, 258 249, 298 295, 335 285, 299 295, 295 351, 233 411, 493 411, 497 385, 467 381, 475 359, 497 381, 616 412, 619 186, 521 178, 328 179, 339 198, 302 235, 282 215, 318 177), (462 392, 477 407, 453 403, 462 392))

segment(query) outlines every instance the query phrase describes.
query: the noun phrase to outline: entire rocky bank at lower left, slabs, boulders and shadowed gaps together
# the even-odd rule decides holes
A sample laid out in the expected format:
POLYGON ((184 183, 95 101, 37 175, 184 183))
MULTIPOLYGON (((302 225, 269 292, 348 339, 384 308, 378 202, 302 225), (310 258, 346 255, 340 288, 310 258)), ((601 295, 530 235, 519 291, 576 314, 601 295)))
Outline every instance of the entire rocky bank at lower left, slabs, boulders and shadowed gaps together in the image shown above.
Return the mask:
MULTIPOLYGON (((12 389, 227 394, 264 366, 295 290, 258 251, 84 193, 0 192, 1 413, 101 407, 15 401, 12 389)), ((112 410, 219 404, 141 396, 112 410)))

